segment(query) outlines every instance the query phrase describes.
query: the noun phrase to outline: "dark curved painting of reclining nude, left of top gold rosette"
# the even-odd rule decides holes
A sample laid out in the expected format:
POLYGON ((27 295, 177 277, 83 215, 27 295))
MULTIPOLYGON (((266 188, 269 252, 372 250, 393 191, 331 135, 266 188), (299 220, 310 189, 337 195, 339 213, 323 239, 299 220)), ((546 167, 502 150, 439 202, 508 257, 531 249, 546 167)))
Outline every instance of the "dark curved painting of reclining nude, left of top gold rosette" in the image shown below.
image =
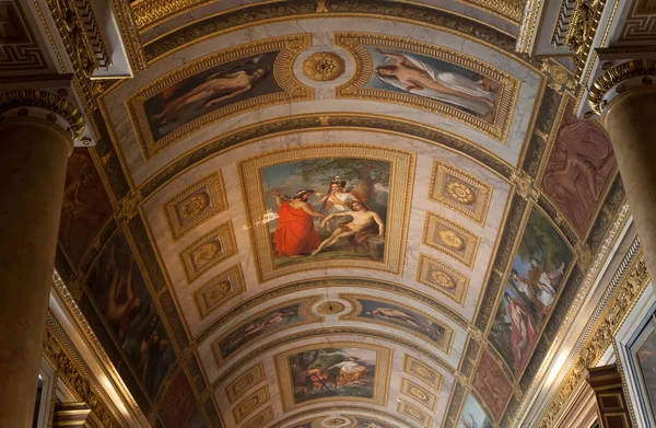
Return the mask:
POLYGON ((280 51, 272 51, 203 70, 172 84, 143 102, 154 140, 229 104, 280 92, 272 68, 280 51))

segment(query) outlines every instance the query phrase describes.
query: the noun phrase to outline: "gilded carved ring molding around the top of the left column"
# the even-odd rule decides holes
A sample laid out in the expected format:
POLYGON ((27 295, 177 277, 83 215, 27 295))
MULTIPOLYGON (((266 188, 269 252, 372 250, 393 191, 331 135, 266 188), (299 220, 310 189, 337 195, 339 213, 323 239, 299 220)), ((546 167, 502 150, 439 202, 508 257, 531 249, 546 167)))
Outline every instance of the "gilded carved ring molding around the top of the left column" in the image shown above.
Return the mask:
POLYGON ((0 94, 0 114, 16 107, 40 107, 63 117, 70 128, 72 139, 80 138, 84 130, 82 113, 65 99, 49 92, 20 89, 0 94))

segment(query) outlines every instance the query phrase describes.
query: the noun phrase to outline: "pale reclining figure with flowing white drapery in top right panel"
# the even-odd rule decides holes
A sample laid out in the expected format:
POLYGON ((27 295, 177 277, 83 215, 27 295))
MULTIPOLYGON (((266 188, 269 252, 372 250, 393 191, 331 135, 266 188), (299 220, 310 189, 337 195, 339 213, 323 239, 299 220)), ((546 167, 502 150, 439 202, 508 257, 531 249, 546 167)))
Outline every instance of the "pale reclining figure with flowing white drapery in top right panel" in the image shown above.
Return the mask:
POLYGON ((483 80, 475 81, 453 71, 440 70, 408 54, 376 50, 387 57, 376 68, 380 80, 405 92, 453 104, 480 116, 494 108, 494 92, 483 80))

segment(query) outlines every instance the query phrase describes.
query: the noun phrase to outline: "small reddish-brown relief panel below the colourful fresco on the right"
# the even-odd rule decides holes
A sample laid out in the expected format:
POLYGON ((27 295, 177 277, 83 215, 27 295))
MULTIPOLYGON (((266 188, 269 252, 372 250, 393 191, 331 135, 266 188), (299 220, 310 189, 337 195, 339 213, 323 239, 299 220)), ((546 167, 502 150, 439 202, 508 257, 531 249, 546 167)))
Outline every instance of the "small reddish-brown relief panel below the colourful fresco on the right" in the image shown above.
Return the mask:
POLYGON ((513 389, 487 350, 481 355, 473 387, 485 402, 494 418, 499 419, 513 389))

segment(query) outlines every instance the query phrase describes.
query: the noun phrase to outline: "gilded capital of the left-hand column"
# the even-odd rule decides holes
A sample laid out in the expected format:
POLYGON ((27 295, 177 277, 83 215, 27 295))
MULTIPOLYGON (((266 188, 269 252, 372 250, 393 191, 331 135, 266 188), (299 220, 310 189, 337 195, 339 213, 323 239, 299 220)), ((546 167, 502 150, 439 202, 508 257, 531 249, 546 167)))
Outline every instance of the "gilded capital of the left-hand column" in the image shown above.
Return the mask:
MULTIPOLYGON (((84 131, 84 116, 73 104, 47 91, 20 89, 0 93, 0 124, 17 118, 36 117, 58 125, 73 140, 84 131)), ((89 146, 91 140, 82 139, 89 146), (87 142, 86 142, 87 141, 87 142)))

